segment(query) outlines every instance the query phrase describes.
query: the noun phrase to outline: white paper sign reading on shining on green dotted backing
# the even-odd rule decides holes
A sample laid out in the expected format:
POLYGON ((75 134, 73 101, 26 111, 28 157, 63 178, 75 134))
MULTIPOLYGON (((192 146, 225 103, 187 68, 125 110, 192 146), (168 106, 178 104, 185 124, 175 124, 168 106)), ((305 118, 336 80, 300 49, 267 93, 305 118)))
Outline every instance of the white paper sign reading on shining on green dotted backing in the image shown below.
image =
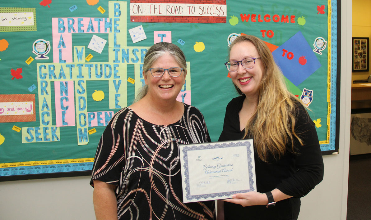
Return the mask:
POLYGON ((0 13, 0 26, 33 26, 33 12, 0 13))

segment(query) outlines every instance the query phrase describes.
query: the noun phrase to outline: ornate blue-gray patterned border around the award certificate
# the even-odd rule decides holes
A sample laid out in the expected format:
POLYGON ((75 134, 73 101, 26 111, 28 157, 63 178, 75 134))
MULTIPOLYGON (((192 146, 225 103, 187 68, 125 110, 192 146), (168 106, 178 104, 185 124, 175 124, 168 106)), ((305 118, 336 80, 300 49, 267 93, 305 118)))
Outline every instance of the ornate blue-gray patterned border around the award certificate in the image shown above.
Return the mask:
POLYGON ((219 197, 222 197, 222 196, 230 196, 232 194, 236 194, 236 193, 246 193, 246 192, 249 192, 249 191, 255 191, 254 189, 254 180, 253 180, 253 172, 252 172, 252 169, 253 169, 253 166, 252 166, 252 158, 251 158, 251 154, 252 154, 252 151, 250 150, 250 147, 251 147, 251 143, 249 140, 246 140, 246 141, 238 141, 237 143, 234 143, 234 142, 231 142, 231 143, 216 143, 216 144, 207 144, 207 145, 199 145, 199 146, 192 146, 192 147, 188 147, 188 146, 185 146, 183 148, 183 153, 184 153, 184 156, 183 156, 183 161, 184 161, 184 176, 185 176, 185 180, 184 180, 184 183, 185 183, 185 191, 187 192, 187 194, 185 195, 185 197, 187 198, 187 200, 193 200, 193 199, 207 199, 207 198, 215 198, 217 196, 219 197), (190 186, 189 186, 189 172, 188 172, 188 151, 191 151, 191 150, 204 150, 204 149, 217 149, 217 148, 224 148, 224 147, 239 147, 239 146, 247 146, 247 164, 248 164, 248 169, 249 169, 249 180, 250 180, 250 189, 249 190, 239 190, 239 191, 228 191, 228 192, 223 192, 223 193, 210 193, 210 194, 199 194, 199 195, 194 195, 194 196, 191 196, 190 194, 190 186))

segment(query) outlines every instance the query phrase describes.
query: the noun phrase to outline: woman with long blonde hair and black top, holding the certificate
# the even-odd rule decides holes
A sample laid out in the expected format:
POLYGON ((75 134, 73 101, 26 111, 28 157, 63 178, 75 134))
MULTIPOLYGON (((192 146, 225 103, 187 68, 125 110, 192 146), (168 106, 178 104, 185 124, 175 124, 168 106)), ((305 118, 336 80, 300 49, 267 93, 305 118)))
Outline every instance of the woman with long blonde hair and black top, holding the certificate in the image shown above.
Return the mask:
POLYGON ((315 125, 264 41, 238 37, 225 65, 240 96, 227 105, 219 141, 253 139, 257 191, 218 201, 217 219, 297 219, 300 197, 323 179, 315 125))

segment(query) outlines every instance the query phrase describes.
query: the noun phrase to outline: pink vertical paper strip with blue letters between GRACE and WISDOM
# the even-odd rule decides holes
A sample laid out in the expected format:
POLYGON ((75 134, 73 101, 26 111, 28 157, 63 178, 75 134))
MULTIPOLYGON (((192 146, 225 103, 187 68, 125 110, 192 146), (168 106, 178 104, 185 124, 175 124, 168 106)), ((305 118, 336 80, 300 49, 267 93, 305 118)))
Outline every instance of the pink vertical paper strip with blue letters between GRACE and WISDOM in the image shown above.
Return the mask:
POLYGON ((57 127, 75 126, 75 91, 73 90, 73 81, 55 81, 54 91, 57 127))

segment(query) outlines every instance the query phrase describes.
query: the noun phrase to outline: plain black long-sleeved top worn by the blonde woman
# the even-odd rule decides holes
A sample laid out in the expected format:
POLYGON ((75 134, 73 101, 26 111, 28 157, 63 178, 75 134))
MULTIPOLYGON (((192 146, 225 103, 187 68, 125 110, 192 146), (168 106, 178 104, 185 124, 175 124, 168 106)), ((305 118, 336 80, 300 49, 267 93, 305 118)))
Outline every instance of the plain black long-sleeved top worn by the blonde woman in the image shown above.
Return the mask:
MULTIPOLYGON (((239 111, 244 99, 245 96, 236 97, 227 105, 219 141, 243 138, 245 131, 240 131, 239 111)), ((273 209, 224 203, 226 219, 245 219, 248 216, 249 219, 297 219, 300 211, 299 198, 322 181, 324 164, 315 125, 305 107, 299 103, 297 107, 295 132, 300 134, 303 146, 294 140, 295 153, 289 151, 290 146, 286 146, 288 150, 279 160, 272 159, 268 163, 259 159, 254 149, 257 191, 265 193, 277 188, 293 198, 279 201, 273 209)), ((250 139, 252 136, 248 134, 245 138, 250 139)))

